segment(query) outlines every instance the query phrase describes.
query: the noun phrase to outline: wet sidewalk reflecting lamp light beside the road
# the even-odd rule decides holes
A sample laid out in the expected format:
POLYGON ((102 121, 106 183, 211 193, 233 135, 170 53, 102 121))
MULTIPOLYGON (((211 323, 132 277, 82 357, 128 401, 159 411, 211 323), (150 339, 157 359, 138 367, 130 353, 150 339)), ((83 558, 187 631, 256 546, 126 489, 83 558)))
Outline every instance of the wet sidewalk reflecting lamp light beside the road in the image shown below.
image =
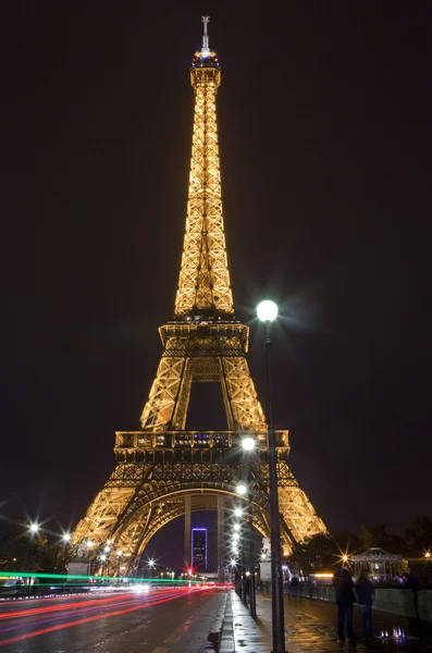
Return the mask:
MULTIPOLYGON (((365 643, 337 644, 336 642, 336 605, 323 601, 313 601, 301 597, 289 601, 284 597, 285 607, 285 642, 288 653, 328 653, 330 651, 349 651, 357 653, 371 653, 385 651, 386 653, 422 653, 432 651, 432 641, 420 644, 417 639, 407 639, 405 642, 383 642, 378 638, 365 643)), ((373 630, 380 633, 381 629, 392 632, 393 626, 405 628, 408 633, 407 620, 396 615, 374 611, 373 630)), ((359 637, 360 614, 355 609, 355 631, 359 637)), ((272 650, 271 633, 271 594, 257 592, 257 619, 249 615, 237 594, 232 591, 226 603, 225 619, 222 631, 220 653, 270 653, 272 650)))

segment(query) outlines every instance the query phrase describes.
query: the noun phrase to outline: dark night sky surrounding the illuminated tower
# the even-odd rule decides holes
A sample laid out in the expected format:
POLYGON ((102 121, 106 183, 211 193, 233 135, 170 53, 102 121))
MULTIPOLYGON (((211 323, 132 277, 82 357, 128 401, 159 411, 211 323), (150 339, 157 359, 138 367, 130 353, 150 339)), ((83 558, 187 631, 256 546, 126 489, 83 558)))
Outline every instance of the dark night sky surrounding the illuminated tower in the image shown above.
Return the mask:
POLYGON ((293 471, 332 529, 431 515, 428 4, 2 3, 3 515, 75 523, 114 431, 138 428, 173 316, 202 13, 234 301, 261 397, 254 311, 280 304, 293 471))

